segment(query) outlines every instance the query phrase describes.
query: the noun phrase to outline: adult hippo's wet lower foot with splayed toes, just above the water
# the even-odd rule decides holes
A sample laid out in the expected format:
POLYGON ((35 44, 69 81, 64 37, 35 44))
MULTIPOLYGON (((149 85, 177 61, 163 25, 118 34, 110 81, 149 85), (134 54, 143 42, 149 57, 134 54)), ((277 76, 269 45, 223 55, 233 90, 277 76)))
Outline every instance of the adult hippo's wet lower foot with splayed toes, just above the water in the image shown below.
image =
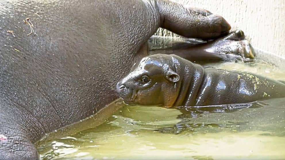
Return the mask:
POLYGON ((224 59, 230 61, 241 60, 244 62, 253 61, 256 56, 255 51, 248 40, 245 40, 244 32, 236 30, 214 40, 210 43, 210 47, 205 51, 213 54, 220 54, 224 59))

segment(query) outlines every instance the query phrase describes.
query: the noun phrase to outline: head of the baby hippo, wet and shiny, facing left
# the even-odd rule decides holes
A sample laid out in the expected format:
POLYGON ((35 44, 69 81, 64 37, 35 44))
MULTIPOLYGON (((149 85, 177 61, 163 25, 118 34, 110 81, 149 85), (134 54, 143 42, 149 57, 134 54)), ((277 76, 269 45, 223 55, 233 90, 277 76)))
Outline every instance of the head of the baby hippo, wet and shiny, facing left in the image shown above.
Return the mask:
POLYGON ((180 76, 172 58, 164 54, 143 58, 118 82, 117 93, 126 104, 171 107, 180 90, 180 76))

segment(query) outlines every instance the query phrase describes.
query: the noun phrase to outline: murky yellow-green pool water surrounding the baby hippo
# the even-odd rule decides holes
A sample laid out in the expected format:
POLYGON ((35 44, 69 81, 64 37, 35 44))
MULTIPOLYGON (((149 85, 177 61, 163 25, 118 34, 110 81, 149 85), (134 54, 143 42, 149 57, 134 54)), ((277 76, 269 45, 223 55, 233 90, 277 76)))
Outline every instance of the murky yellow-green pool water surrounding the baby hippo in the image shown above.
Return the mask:
MULTIPOLYGON (((207 65, 285 80, 285 68, 263 61, 207 65)), ((42 159, 285 159, 284 102, 201 113, 180 134, 157 131, 180 122, 179 110, 116 102, 101 112, 107 120, 94 116, 57 131, 38 143, 38 151, 42 159)))

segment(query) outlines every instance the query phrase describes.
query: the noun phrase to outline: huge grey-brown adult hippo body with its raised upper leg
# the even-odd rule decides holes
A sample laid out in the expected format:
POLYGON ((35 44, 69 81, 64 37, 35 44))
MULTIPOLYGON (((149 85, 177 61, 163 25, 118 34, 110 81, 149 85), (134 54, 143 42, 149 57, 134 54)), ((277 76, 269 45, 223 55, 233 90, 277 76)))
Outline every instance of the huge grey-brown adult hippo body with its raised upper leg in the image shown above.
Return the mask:
POLYGON ((166 0, 1 0, 0 23, 1 159, 37 159, 45 133, 118 98, 112 86, 147 56, 157 28, 203 39, 230 30, 221 16, 166 0))

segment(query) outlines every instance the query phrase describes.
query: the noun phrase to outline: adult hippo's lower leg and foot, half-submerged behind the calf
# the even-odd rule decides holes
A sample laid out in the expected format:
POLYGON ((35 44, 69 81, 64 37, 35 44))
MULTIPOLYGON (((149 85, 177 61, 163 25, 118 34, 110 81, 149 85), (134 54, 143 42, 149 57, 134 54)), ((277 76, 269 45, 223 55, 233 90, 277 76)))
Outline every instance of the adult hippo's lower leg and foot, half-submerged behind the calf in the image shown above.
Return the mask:
MULTIPOLYGON (((244 32, 236 30, 226 36, 205 42, 174 42, 170 46, 154 46, 152 40, 149 42, 150 54, 176 54, 189 61, 251 61, 255 57, 253 47, 248 40, 245 40, 244 32)), ((194 41, 194 40, 193 40, 194 41)))

